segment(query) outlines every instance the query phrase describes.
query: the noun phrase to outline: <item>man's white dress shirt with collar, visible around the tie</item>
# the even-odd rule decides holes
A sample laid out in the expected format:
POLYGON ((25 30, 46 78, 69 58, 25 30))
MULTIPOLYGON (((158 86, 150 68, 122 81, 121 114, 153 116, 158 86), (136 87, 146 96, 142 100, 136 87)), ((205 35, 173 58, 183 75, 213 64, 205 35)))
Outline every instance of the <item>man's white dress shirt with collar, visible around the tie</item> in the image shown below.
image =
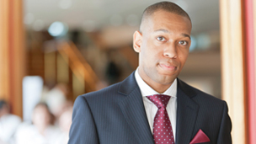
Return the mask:
MULTIPOLYGON (((143 99, 143 103, 146 109, 147 113, 147 120, 149 123, 149 126, 151 128, 151 131, 153 133, 153 123, 155 115, 157 114, 157 106, 153 104, 149 99, 147 99, 146 96, 153 95, 153 94, 159 94, 154 89, 149 87, 147 83, 145 83, 141 76, 139 75, 138 68, 135 72, 135 78, 136 82, 139 85, 139 88, 141 89, 141 95, 143 99)), ((176 115, 177 115, 177 78, 173 81, 173 84, 168 88, 164 93, 168 96, 171 96, 171 99, 168 101, 168 105, 166 107, 169 119, 172 123, 172 129, 173 129, 173 137, 175 141, 175 134, 176 134, 176 115)))

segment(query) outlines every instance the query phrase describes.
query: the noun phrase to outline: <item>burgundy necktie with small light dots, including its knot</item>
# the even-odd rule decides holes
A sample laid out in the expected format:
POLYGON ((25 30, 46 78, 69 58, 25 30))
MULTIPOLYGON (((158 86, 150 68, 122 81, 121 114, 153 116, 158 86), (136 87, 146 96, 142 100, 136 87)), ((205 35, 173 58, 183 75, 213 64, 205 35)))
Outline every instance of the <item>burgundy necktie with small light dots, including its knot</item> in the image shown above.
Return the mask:
POLYGON ((153 124, 153 136, 156 144, 174 144, 172 124, 166 110, 170 98, 163 94, 147 96, 147 99, 158 108, 153 124))

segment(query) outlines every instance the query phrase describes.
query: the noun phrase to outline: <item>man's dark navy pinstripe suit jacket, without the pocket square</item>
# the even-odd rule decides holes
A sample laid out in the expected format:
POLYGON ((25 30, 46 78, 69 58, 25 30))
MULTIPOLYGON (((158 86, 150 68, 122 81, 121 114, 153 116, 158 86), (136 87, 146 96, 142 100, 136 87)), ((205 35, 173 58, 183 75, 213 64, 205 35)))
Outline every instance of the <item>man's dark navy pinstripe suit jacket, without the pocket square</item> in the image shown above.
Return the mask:
MULTIPOLYGON (((201 129, 211 142, 230 144, 227 104, 178 79, 176 144, 201 129)), ((68 144, 154 144, 134 72, 123 82, 77 97, 68 144)), ((203 144, 203 143, 202 143, 203 144)))

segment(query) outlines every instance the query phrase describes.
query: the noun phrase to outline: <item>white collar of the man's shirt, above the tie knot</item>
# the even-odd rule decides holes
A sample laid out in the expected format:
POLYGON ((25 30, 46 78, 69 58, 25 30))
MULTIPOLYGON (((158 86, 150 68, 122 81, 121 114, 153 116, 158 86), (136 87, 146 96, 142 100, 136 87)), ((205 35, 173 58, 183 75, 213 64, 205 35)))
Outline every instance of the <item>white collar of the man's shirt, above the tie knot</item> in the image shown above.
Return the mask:
MULTIPOLYGON (((142 97, 146 97, 148 95, 153 95, 153 94, 159 94, 142 80, 138 72, 138 69, 139 67, 137 67, 136 69, 135 79, 136 79, 136 82, 138 83, 139 88, 141 89, 142 97)), ((172 85, 162 94, 165 94, 171 97, 177 97, 177 78, 175 78, 172 85)))

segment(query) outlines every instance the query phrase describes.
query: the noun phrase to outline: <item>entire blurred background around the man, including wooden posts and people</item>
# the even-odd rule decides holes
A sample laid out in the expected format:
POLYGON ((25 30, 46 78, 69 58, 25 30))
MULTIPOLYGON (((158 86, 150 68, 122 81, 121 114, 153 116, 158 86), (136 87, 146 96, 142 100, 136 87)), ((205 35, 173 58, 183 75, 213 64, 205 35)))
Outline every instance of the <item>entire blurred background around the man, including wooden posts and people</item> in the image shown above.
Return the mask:
MULTIPOLYGON (((16 126, 9 134, 3 131, 9 128, 1 124, 0 111, 0 144, 28 144, 28 139, 32 139, 31 143, 67 143, 72 104, 77 96, 118 83, 136 70, 138 55, 133 51, 132 35, 139 29, 143 10, 157 2, 1 1, 0 99, 4 101, 0 109, 6 108, 3 114, 14 116, 5 120, 13 120, 16 126)), ((254 108, 245 108, 250 98, 245 90, 250 88, 247 79, 252 79, 247 62, 254 65, 255 60, 246 59, 249 42, 244 38, 250 28, 246 19, 254 11, 243 12, 242 6, 253 6, 253 1, 248 5, 237 0, 237 5, 228 0, 171 2, 184 8, 192 20, 189 58, 179 78, 227 100, 232 118, 242 116, 237 122, 232 121, 243 124, 234 128, 232 135, 243 131, 237 141, 248 143, 244 135, 250 130, 245 121, 250 117, 246 115, 248 109, 254 108), (232 15, 236 14, 234 11, 237 17, 232 15), (233 93, 237 94, 235 101, 240 102, 234 102, 233 93), (233 107, 242 107, 242 112, 233 114, 233 107)))

